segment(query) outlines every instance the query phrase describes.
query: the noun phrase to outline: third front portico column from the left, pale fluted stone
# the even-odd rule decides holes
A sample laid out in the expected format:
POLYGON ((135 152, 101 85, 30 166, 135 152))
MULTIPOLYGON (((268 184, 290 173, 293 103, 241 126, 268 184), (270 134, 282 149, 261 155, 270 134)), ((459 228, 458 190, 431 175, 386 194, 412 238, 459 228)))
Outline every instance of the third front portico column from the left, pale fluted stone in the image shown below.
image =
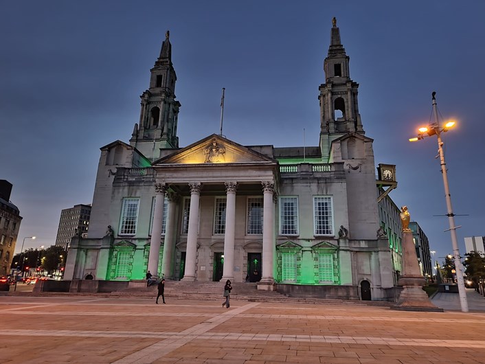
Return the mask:
POLYGON ((234 280, 234 231, 236 229, 236 189, 237 182, 225 182, 227 193, 224 234, 223 281, 234 280))

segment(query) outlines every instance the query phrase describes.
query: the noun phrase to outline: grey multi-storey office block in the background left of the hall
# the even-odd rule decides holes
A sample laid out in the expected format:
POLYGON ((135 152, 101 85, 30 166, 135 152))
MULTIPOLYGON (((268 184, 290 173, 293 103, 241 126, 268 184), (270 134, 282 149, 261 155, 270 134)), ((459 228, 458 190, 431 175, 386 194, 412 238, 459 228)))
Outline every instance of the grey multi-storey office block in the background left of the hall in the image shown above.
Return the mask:
POLYGON ((91 205, 75 205, 60 212, 59 227, 57 229, 56 245, 67 249, 73 236, 85 236, 89 227, 91 205))

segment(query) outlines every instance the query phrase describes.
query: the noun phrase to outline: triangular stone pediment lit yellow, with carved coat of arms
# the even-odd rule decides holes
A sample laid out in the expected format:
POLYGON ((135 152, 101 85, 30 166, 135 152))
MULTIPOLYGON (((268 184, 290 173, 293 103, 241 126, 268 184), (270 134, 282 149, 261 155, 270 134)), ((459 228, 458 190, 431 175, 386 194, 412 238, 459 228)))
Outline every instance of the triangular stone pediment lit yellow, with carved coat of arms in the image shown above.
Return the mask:
POLYGON ((225 137, 212 134, 190 146, 177 150, 172 155, 155 161, 153 166, 161 164, 224 163, 276 163, 276 161, 225 137))

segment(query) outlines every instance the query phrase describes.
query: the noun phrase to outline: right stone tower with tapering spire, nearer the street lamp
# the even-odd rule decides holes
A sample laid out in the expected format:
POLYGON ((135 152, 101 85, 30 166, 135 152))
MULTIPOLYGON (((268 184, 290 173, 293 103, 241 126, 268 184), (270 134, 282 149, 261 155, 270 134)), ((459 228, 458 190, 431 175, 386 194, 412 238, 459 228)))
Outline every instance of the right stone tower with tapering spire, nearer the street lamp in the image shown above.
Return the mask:
POLYGON ((319 87, 320 148, 328 156, 332 140, 347 133, 363 135, 357 100, 359 84, 350 78, 350 57, 340 41, 337 19, 332 19, 330 47, 324 60, 325 83, 319 87))

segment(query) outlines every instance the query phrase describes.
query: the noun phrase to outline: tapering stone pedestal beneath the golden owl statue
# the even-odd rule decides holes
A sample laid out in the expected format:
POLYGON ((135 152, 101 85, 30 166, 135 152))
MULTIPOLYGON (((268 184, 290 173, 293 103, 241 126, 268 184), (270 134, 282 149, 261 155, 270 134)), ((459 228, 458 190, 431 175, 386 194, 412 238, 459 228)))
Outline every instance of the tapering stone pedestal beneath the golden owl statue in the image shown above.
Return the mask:
POLYGON ((419 269, 411 229, 403 229, 403 275, 398 281, 398 284, 403 286, 403 291, 399 295, 396 306, 392 309, 443 312, 443 309, 436 307, 430 301, 427 293, 422 291, 425 283, 425 278, 422 277, 419 269))

